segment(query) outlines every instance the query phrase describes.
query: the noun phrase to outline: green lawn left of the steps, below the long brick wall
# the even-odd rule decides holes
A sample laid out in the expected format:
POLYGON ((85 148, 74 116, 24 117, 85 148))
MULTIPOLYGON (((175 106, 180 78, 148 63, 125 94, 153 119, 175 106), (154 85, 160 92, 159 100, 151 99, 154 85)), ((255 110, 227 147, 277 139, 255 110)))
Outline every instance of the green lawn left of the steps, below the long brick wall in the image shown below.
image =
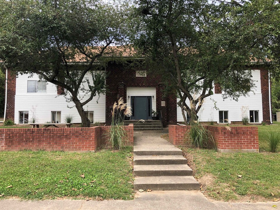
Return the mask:
POLYGON ((0 195, 23 199, 132 199, 131 156, 132 147, 96 153, 1 152, 0 195))

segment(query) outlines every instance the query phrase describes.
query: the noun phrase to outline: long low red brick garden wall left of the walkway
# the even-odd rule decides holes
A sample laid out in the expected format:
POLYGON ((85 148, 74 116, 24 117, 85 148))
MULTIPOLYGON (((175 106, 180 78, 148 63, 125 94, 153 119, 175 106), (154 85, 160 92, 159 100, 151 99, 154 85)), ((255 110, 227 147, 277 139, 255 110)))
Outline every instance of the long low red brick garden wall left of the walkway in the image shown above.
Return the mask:
MULTIPOLYGON (((106 145, 109 126, 90 128, 13 128, 0 129, 0 151, 96 151, 106 145)), ((133 145, 133 124, 125 126, 127 145, 133 145)))

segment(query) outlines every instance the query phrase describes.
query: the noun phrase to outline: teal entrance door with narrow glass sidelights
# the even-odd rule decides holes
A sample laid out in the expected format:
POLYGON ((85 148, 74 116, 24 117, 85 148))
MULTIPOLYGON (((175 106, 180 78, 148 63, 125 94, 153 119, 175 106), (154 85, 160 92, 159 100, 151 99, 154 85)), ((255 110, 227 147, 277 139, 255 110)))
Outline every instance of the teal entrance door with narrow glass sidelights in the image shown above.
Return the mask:
POLYGON ((152 97, 132 96, 131 97, 132 116, 131 120, 149 120, 152 114, 152 97))

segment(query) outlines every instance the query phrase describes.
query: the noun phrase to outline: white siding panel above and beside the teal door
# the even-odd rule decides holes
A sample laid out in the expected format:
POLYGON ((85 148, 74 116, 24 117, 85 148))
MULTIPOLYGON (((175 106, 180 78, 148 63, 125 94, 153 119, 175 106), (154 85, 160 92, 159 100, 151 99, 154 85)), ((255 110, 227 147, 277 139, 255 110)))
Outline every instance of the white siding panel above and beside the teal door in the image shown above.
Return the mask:
POLYGON ((126 90, 127 104, 130 106, 130 99, 132 96, 151 96, 152 97, 152 109, 156 111, 156 89, 155 88, 139 88, 128 87, 126 90), (128 98, 129 96, 129 98, 128 98), (154 98, 153 98, 154 96, 154 98))

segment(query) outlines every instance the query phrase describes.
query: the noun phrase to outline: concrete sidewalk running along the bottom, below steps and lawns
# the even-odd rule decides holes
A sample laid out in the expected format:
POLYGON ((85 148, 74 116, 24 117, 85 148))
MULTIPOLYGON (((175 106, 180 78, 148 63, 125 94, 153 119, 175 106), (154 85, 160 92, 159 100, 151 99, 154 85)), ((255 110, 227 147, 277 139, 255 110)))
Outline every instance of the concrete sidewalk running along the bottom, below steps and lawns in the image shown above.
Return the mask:
POLYGON ((267 210, 280 207, 280 202, 258 203, 227 203, 211 202, 199 191, 155 191, 138 192, 136 198, 130 201, 105 200, 45 200, 20 201, 17 199, 0 200, 1 210, 83 210, 83 209, 113 209, 113 210, 267 210))

